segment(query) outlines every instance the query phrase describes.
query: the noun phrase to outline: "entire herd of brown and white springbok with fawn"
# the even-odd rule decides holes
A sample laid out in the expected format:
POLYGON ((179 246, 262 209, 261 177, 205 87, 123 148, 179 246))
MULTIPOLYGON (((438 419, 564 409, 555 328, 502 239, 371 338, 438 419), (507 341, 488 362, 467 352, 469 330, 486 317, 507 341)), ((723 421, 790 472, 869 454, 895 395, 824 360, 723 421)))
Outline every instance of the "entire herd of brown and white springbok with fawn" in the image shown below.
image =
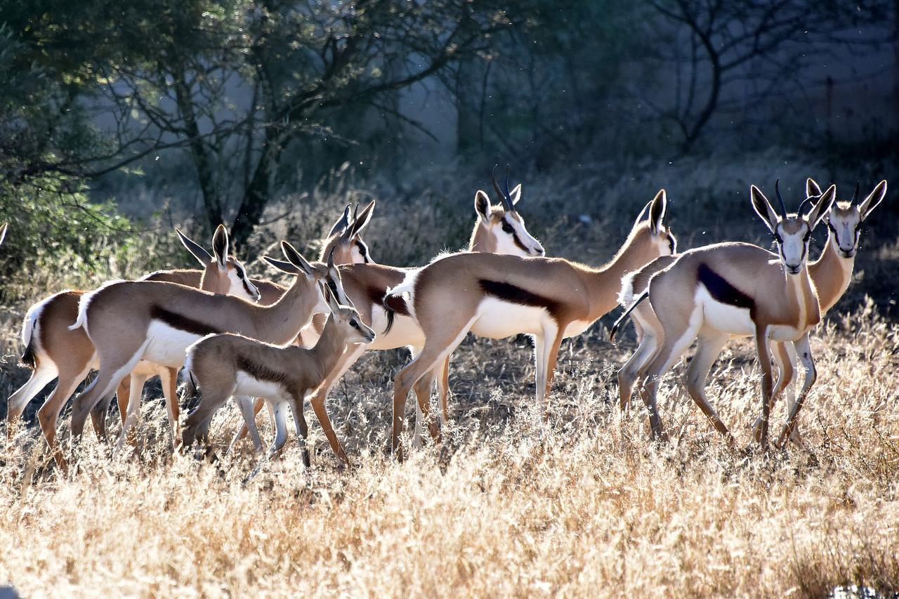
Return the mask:
MULTIPOLYGON (((58 467, 67 471, 56 439, 58 416, 95 370, 93 382, 73 402, 73 451, 88 414, 97 434, 105 437, 113 394, 122 417, 117 447, 129 442, 144 382, 158 375, 176 449, 198 443, 209 451, 212 416, 234 397, 245 425, 232 448, 250 434, 255 449, 262 450, 255 416, 266 405, 275 428, 268 456, 280 451, 289 407, 308 465, 303 403, 309 397, 334 454, 349 463, 328 417, 328 392, 366 350, 405 346, 412 361, 396 374, 393 397, 392 447, 402 459, 399 437, 409 391, 414 389, 417 398, 414 445, 421 443, 423 424, 439 441, 440 428, 428 417, 432 387, 436 382, 443 425, 449 356, 468 332, 533 337, 537 403, 545 414, 562 339, 583 333, 620 304, 626 311, 612 336, 630 317, 639 339, 618 373, 620 406, 628 407, 636 386, 655 437, 664 438, 655 401, 659 381, 695 340, 687 372, 690 396, 734 443, 708 402, 705 380, 728 339, 751 335, 763 375, 761 416, 753 433, 767 448, 770 409, 786 392, 788 419, 778 444, 801 443, 797 416, 815 380, 809 335, 846 291, 862 222, 884 199, 886 181, 859 202, 858 186, 851 201, 835 201, 834 185, 822 192, 808 179, 806 198, 795 213, 788 212, 777 183, 778 210, 752 185, 752 208, 770 229, 777 253, 740 242, 676 253, 676 240, 664 224, 662 190, 640 211, 618 253, 601 267, 544 257, 516 209, 521 184, 510 192, 508 173, 504 189, 495 177, 493 184, 501 203, 493 205, 487 193, 476 192, 476 224, 467 251, 439 255, 421 268, 372 261, 361 237, 372 201, 363 210, 343 210, 318 262, 307 262, 286 241, 281 242, 285 260, 264 258, 295 275, 289 288, 248 278, 229 255, 227 231, 219 226, 212 255, 177 231, 202 270, 160 271, 41 300, 22 326, 22 365, 31 369, 31 378, 9 398, 8 438, 13 439, 31 398, 58 379, 38 419, 58 467), (809 262, 809 238, 821 221, 829 228, 827 245, 809 262), (806 375, 794 399, 797 360, 806 375), (175 389, 182 367, 189 389, 200 389, 201 397, 179 425, 175 389)), ((5 225, 0 241, 4 233, 5 225)))

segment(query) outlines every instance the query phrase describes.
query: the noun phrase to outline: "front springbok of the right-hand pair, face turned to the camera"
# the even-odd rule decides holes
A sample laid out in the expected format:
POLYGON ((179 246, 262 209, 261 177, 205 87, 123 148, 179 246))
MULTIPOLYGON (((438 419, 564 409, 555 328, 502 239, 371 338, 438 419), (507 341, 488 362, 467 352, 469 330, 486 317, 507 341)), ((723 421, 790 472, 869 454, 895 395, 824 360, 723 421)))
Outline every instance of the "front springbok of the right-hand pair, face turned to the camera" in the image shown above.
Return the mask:
POLYGON ((744 243, 692 249, 655 273, 648 290, 628 308, 629 312, 648 298, 659 322, 659 348, 641 371, 645 385, 642 395, 649 411, 650 426, 657 438, 664 436, 655 401, 659 381, 694 339, 698 345, 688 373, 691 395, 716 428, 731 441, 733 437, 708 404, 701 385, 731 335, 755 338, 762 371, 759 438, 762 448, 768 444, 773 390, 770 343, 793 342, 806 367, 806 380, 778 444, 782 444, 785 435, 790 433, 798 410, 814 384, 816 375, 808 337, 821 319, 821 310, 808 275, 808 241, 814 226, 830 209, 836 188, 832 185, 821 196, 806 198, 797 214, 787 213, 778 184, 775 189, 779 214, 755 185, 752 185, 750 195, 753 209, 774 236, 777 255, 744 243), (814 205, 807 214, 802 214, 806 201, 814 202, 814 205), (698 392, 694 394, 694 391, 698 392))

